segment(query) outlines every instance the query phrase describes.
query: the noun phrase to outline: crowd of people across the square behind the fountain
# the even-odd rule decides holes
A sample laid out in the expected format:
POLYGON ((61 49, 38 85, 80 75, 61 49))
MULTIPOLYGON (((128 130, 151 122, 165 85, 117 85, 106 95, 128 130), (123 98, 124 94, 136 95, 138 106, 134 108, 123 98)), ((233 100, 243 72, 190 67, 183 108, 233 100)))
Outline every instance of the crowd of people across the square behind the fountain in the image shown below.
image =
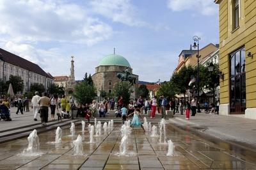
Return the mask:
MULTIPOLYGON (((205 112, 217 112, 220 101, 217 100, 216 104, 209 105, 205 102, 205 112), (210 108, 210 110, 209 110, 210 108)), ((23 114, 23 112, 29 112, 29 100, 27 97, 15 97, 15 98, 4 98, 0 100, 0 109, 1 112, 9 111, 10 107, 17 107, 16 114, 23 114), (7 108, 7 109, 6 109, 7 108)), ((139 116, 140 114, 147 114, 150 111, 150 119, 154 119, 156 112, 161 114, 162 118, 166 117, 166 111, 170 110, 173 112, 173 115, 180 113, 186 114, 187 118, 191 113, 191 116, 195 116, 196 108, 199 107, 199 103, 196 101, 196 98, 191 100, 179 100, 177 98, 166 98, 164 95, 161 97, 148 98, 135 98, 130 100, 129 104, 124 104, 123 97, 118 98, 104 98, 102 102, 97 102, 93 100, 90 104, 75 104, 74 98, 67 98, 65 95, 59 97, 58 95, 47 96, 47 93, 43 93, 42 97, 38 91, 35 92, 35 95, 31 99, 31 109, 33 110, 33 120, 37 121, 38 116, 40 115, 42 125, 46 125, 48 122, 49 109, 51 112, 51 120, 58 121, 63 118, 86 118, 88 123, 90 123, 90 118, 99 116, 99 118, 105 118, 106 114, 109 114, 110 111, 115 110, 115 116, 122 118, 123 122, 126 120, 127 116, 134 115, 136 112, 139 116), (57 115, 57 117, 56 117, 57 115)), ((2 115, 2 114, 1 114, 2 115)), ((2 118, 3 116, 1 116, 2 118)))

